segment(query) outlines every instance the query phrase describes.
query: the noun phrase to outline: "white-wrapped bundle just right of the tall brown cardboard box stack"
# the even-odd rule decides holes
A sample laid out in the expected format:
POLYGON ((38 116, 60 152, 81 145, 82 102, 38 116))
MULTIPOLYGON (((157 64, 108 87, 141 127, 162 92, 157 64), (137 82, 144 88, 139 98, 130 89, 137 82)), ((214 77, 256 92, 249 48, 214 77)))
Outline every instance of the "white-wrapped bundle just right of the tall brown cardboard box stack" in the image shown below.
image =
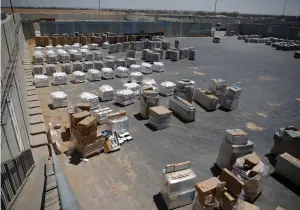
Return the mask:
POLYGON ((126 111, 120 111, 106 115, 106 130, 111 133, 128 132, 129 120, 126 116, 126 111))

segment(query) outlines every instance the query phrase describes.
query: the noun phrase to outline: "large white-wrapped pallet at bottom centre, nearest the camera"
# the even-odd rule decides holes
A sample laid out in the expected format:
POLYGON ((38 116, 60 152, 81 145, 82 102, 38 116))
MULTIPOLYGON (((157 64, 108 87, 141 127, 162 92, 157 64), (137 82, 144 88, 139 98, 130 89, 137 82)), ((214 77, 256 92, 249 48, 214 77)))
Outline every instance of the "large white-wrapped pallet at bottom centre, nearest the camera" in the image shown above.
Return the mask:
POLYGON ((190 161, 166 165, 163 169, 160 194, 168 209, 193 203, 195 178, 190 161))

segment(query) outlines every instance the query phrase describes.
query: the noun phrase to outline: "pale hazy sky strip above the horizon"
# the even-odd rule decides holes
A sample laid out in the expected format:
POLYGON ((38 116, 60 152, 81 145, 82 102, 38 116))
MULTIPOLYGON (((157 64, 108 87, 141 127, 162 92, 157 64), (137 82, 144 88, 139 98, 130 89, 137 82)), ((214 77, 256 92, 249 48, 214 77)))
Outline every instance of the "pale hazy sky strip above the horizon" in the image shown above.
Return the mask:
MULTIPOLYGON (((99 0, 11 0, 14 6, 98 8, 99 0)), ((215 0, 100 0, 101 7, 212 11, 215 0)), ((218 0, 217 11, 282 14, 285 0, 218 0)), ((9 0, 2 0, 8 6, 9 0)), ((287 0, 286 15, 300 15, 300 0, 287 0)))

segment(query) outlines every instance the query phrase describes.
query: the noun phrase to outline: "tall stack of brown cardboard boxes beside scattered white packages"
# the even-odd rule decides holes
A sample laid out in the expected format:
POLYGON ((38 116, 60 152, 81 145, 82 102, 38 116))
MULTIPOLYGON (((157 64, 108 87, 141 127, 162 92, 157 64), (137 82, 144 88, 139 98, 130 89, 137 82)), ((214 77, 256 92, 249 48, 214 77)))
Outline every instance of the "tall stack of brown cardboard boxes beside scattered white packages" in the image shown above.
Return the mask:
POLYGON ((97 139, 97 120, 90 115, 88 111, 71 114, 71 138, 79 152, 97 139))

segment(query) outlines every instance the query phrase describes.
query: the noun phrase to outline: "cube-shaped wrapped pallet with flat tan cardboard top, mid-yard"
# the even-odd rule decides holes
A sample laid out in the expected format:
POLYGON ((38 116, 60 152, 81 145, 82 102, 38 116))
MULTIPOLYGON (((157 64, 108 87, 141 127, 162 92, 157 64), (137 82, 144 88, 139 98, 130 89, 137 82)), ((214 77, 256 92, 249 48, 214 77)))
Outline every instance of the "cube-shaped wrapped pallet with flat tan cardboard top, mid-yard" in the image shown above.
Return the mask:
POLYGON ((160 130, 170 126, 172 112, 163 106, 149 109, 149 123, 160 130))

